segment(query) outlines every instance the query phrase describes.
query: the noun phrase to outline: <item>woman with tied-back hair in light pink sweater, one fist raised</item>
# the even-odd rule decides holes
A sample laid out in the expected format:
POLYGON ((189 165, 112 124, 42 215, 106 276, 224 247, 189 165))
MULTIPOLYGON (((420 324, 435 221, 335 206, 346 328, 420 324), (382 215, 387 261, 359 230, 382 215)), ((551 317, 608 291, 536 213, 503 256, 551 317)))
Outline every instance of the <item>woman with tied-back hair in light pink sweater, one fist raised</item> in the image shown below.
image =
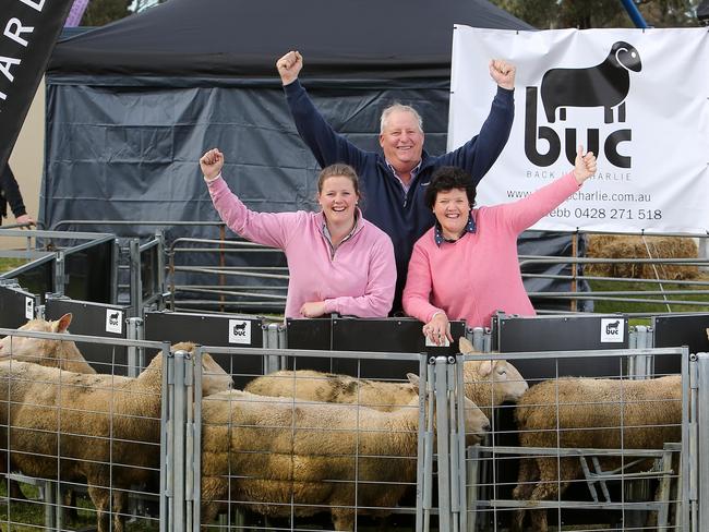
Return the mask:
POLYGON ((332 165, 321 172, 319 213, 254 213, 221 179, 223 166, 224 155, 217 148, 200 159, 224 222, 247 240, 286 253, 290 275, 286 317, 388 314, 396 283, 394 246, 384 231, 362 218, 351 167, 332 165))

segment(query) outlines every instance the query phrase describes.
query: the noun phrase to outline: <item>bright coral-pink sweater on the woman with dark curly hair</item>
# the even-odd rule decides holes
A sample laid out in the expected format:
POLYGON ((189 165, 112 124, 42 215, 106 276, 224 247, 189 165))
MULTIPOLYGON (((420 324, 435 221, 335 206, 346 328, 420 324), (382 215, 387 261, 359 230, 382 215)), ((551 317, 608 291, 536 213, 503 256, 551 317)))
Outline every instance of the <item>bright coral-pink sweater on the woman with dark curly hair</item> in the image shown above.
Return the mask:
POLYGON ((472 209, 476 232, 440 247, 431 228, 413 246, 404 311, 423 323, 444 311, 448 319, 465 319, 469 327, 489 327, 496 311, 533 316, 517 237, 578 189, 570 172, 518 202, 472 209))

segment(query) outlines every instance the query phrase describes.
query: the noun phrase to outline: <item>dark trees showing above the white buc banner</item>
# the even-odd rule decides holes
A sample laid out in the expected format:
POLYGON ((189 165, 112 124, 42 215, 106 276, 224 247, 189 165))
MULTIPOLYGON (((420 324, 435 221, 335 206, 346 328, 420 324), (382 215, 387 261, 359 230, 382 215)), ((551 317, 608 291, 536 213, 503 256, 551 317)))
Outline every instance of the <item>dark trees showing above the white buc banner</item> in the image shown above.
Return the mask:
MULTIPOLYGON (((621 0, 492 0, 540 29, 634 27, 621 0)), ((650 26, 696 26, 699 0, 635 0, 650 26)))

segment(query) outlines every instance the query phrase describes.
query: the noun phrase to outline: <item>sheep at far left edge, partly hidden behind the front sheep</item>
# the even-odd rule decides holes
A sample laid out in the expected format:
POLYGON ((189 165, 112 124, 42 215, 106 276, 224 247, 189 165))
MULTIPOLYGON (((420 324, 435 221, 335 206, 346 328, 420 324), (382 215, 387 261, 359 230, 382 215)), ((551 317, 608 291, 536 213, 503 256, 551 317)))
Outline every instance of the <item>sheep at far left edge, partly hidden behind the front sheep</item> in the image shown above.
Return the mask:
MULTIPOLYGON (((56 322, 41 318, 28 321, 17 330, 67 334, 72 321, 68 313, 56 322)), ((48 340, 23 336, 5 336, 0 340, 0 360, 34 362, 49 367, 59 367, 74 373, 96 373, 71 340, 48 340)))

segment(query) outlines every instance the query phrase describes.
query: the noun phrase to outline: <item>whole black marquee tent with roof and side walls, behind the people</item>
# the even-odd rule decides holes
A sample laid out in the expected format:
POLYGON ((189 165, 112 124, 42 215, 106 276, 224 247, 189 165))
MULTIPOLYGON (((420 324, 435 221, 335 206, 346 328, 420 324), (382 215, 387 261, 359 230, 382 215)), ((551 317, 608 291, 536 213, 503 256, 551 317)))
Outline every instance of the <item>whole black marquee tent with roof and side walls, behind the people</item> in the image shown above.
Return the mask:
MULTIPOLYGON (((301 80, 316 106, 352 142, 378 149, 378 114, 400 101, 420 110, 426 149, 441 153, 454 24, 532 29, 485 0, 170 0, 64 39, 47 75, 40 219, 216 220, 197 166, 213 146, 252 208, 312 207, 317 164, 275 70, 290 49, 304 56, 301 80)), ((526 240, 534 254, 569 242, 526 240)))

